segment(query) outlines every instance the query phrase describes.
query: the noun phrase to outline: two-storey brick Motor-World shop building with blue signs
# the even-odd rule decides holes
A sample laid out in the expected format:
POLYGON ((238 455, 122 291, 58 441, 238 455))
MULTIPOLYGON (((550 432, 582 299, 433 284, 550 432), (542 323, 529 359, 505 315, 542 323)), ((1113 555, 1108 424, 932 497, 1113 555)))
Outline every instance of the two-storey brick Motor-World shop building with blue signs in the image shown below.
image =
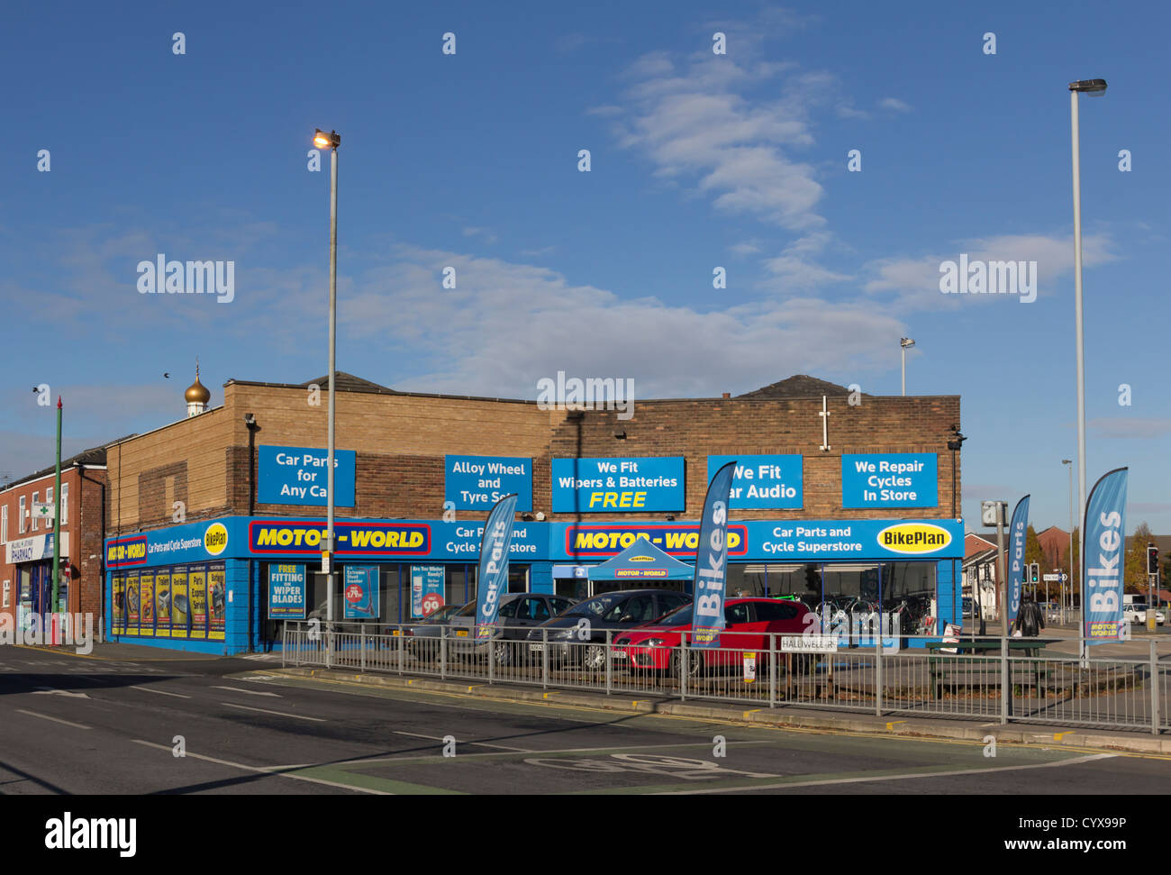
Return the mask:
MULTIPOLYGON (((116 634, 211 651, 268 647, 278 565, 304 575, 307 613, 323 608, 327 385, 230 380, 224 404, 206 410, 197 380, 186 419, 108 447, 116 634)), ((623 419, 338 374, 335 561, 342 573, 377 567, 383 623, 417 616, 420 577, 463 603, 474 597, 495 494, 519 492, 511 588, 584 596, 598 589, 576 569, 639 534, 691 559, 710 467, 734 457, 730 590, 916 599, 937 620, 951 615, 952 560, 963 558, 951 518, 958 454, 946 449, 959 422, 957 396, 851 396, 803 376, 735 398, 639 401, 623 419), (899 521, 938 531, 946 546, 882 547, 899 521)), ((335 592, 336 617, 343 608, 335 592)))

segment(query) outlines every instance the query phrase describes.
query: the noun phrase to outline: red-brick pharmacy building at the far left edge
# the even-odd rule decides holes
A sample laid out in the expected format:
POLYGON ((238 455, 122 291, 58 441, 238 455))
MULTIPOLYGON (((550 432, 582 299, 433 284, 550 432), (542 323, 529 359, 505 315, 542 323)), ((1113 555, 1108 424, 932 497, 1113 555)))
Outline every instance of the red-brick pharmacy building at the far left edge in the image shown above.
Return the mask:
MULTIPOLYGON (((52 609, 53 519, 37 519, 34 504, 54 504, 55 466, 0 491, 0 613, 14 621, 52 609)), ((61 462, 60 608, 103 614, 102 542, 105 538, 105 449, 61 462)))

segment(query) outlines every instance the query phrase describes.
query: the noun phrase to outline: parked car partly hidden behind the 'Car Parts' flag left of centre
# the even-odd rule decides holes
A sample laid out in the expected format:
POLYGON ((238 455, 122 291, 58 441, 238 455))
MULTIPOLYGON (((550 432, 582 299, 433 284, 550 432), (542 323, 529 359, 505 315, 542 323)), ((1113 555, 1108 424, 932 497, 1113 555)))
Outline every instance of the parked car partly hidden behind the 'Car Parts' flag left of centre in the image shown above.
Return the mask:
POLYGON ((491 638, 477 641, 475 602, 471 601, 445 623, 412 627, 408 647, 413 654, 426 654, 434 658, 439 654, 437 638, 446 634, 450 641, 447 652, 452 657, 472 658, 487 652, 491 648, 495 661, 507 664, 512 661, 512 648, 502 642, 523 641, 533 627, 573 608, 575 603, 574 599, 564 595, 508 593, 500 597, 497 633, 491 638))

